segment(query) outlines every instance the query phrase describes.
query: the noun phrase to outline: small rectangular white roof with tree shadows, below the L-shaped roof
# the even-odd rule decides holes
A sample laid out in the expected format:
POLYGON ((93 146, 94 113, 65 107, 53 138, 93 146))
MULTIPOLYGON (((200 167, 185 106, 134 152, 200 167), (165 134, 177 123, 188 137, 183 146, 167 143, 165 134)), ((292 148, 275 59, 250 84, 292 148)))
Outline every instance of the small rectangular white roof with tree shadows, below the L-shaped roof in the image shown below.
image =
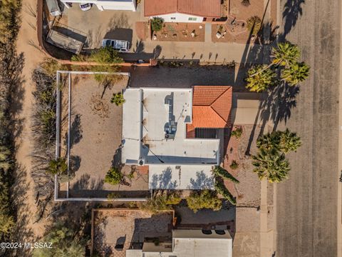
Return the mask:
POLYGON ((151 164, 148 171, 150 189, 213 189, 212 165, 151 164))

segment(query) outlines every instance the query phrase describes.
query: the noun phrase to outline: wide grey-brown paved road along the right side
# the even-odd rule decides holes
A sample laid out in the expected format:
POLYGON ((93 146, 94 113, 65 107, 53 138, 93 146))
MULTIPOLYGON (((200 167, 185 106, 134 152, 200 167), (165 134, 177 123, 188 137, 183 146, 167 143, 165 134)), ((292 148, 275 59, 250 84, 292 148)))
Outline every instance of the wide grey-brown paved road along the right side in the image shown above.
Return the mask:
MULTIPOLYGON (((287 1, 304 2, 281 0, 281 6, 287 1)), ((298 21, 296 11, 284 21, 286 39, 301 47, 311 76, 287 123, 303 146, 290 156, 291 178, 277 187, 276 256, 337 256, 340 7, 336 0, 307 0, 301 7, 298 21)))

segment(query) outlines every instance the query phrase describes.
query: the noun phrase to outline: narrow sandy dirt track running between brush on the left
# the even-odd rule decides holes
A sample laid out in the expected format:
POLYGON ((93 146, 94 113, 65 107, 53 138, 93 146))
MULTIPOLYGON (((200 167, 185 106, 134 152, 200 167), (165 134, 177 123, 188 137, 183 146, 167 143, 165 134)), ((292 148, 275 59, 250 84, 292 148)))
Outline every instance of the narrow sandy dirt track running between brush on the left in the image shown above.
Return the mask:
MULTIPOLYGON (((39 51, 36 35, 36 0, 24 0, 21 10, 21 29, 17 41, 18 54, 24 56, 24 68, 21 74, 21 99, 14 104, 16 108, 16 159, 18 170, 16 171, 16 185, 14 192, 17 193, 15 204, 18 207, 18 231, 17 235, 23 241, 31 242, 41 236, 44 232, 44 223, 34 223, 36 215, 36 204, 33 196, 33 180, 31 178, 31 129, 30 116, 33 102, 31 82, 31 72, 37 64, 44 58, 44 54, 39 51)), ((24 253, 21 255, 24 256, 24 253)))

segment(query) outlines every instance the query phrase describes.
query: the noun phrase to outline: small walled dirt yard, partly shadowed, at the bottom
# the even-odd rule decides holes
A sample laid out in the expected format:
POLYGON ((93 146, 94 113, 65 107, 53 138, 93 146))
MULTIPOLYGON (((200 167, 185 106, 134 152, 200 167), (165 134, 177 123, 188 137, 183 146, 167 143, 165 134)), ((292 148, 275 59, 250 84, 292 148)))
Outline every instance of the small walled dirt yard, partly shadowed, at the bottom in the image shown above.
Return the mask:
POLYGON ((160 238, 171 241, 172 212, 157 214, 140 210, 100 209, 93 211, 94 250, 105 256, 125 256, 125 250, 145 238, 160 238), (123 251, 116 251, 115 245, 123 245, 123 251))

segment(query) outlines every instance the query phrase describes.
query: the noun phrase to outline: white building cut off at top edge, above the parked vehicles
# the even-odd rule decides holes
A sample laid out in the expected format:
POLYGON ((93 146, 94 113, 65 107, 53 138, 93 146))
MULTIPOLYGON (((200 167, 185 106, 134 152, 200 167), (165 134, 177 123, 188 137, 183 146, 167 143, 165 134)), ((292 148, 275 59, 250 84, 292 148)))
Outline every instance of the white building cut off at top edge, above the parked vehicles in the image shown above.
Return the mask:
POLYGON ((123 10, 136 11, 135 0, 61 0, 61 2, 70 8, 70 4, 93 4, 98 7, 100 11, 105 10, 123 10))

